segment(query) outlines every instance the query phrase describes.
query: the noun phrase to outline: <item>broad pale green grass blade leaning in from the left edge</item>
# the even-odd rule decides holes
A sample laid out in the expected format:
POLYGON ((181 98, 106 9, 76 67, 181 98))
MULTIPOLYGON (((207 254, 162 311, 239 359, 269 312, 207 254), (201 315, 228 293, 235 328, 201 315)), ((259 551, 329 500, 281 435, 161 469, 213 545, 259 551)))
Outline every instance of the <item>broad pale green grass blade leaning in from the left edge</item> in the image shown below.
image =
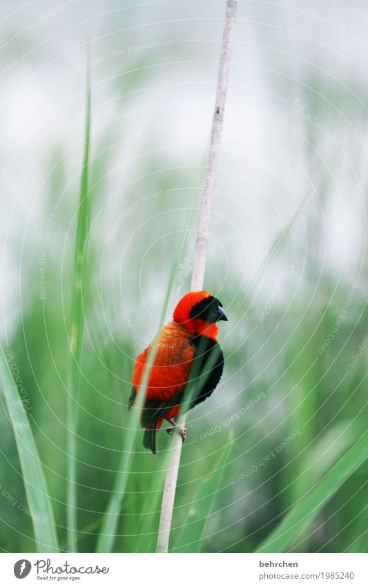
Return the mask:
POLYGON ((28 509, 37 514, 32 515, 37 552, 59 552, 54 514, 35 438, 3 348, 0 352, 0 381, 17 443, 28 509))

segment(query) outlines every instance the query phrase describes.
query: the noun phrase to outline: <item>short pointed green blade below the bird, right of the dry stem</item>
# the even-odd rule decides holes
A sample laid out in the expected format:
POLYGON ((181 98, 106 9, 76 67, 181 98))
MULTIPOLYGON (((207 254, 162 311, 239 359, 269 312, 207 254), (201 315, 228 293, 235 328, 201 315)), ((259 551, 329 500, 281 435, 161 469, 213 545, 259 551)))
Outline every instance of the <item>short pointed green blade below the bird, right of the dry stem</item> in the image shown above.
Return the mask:
POLYGON ((222 449, 213 472, 198 487, 195 499, 189 508, 186 523, 177 535, 174 546, 170 549, 171 552, 200 552, 232 444, 233 435, 229 434, 228 442, 222 449))

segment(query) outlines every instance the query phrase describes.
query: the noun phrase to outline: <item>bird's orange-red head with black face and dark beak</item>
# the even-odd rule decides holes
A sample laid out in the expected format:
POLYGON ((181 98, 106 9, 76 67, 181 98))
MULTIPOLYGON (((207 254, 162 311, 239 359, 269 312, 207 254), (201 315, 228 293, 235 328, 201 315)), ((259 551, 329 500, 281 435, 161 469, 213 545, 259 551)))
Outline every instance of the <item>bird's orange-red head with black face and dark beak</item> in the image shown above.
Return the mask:
POLYGON ((218 328, 216 322, 227 320, 220 300, 209 292, 189 292, 177 304, 174 322, 184 324, 196 334, 216 339, 218 328))

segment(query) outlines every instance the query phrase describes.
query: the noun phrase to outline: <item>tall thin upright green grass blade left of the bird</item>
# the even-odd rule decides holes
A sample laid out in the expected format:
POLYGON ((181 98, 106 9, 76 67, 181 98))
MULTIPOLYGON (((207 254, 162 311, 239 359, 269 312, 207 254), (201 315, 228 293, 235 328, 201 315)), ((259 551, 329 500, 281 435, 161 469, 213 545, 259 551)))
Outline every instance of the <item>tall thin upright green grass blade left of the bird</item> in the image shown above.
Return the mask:
POLYGON ((81 344, 84 332, 82 300, 82 263, 86 257, 88 231, 90 228, 90 194, 88 194, 88 160, 90 149, 90 75, 87 69, 86 129, 84 136, 84 158, 81 171, 77 234, 75 239, 75 259, 72 290, 72 310, 70 326, 70 354, 68 365, 68 406, 67 406, 67 534, 68 550, 77 552, 77 398, 79 384, 79 365, 81 344))

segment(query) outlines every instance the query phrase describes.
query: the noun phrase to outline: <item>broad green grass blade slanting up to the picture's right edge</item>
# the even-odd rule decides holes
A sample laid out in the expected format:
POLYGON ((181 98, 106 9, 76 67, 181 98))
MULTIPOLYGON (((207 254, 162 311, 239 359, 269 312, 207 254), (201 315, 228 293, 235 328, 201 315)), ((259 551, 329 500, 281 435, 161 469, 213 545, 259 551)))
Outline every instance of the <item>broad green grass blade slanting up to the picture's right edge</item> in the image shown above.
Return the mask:
POLYGON ((298 501, 256 552, 286 552, 340 485, 362 465, 367 457, 368 434, 365 434, 340 458, 322 481, 298 501))

